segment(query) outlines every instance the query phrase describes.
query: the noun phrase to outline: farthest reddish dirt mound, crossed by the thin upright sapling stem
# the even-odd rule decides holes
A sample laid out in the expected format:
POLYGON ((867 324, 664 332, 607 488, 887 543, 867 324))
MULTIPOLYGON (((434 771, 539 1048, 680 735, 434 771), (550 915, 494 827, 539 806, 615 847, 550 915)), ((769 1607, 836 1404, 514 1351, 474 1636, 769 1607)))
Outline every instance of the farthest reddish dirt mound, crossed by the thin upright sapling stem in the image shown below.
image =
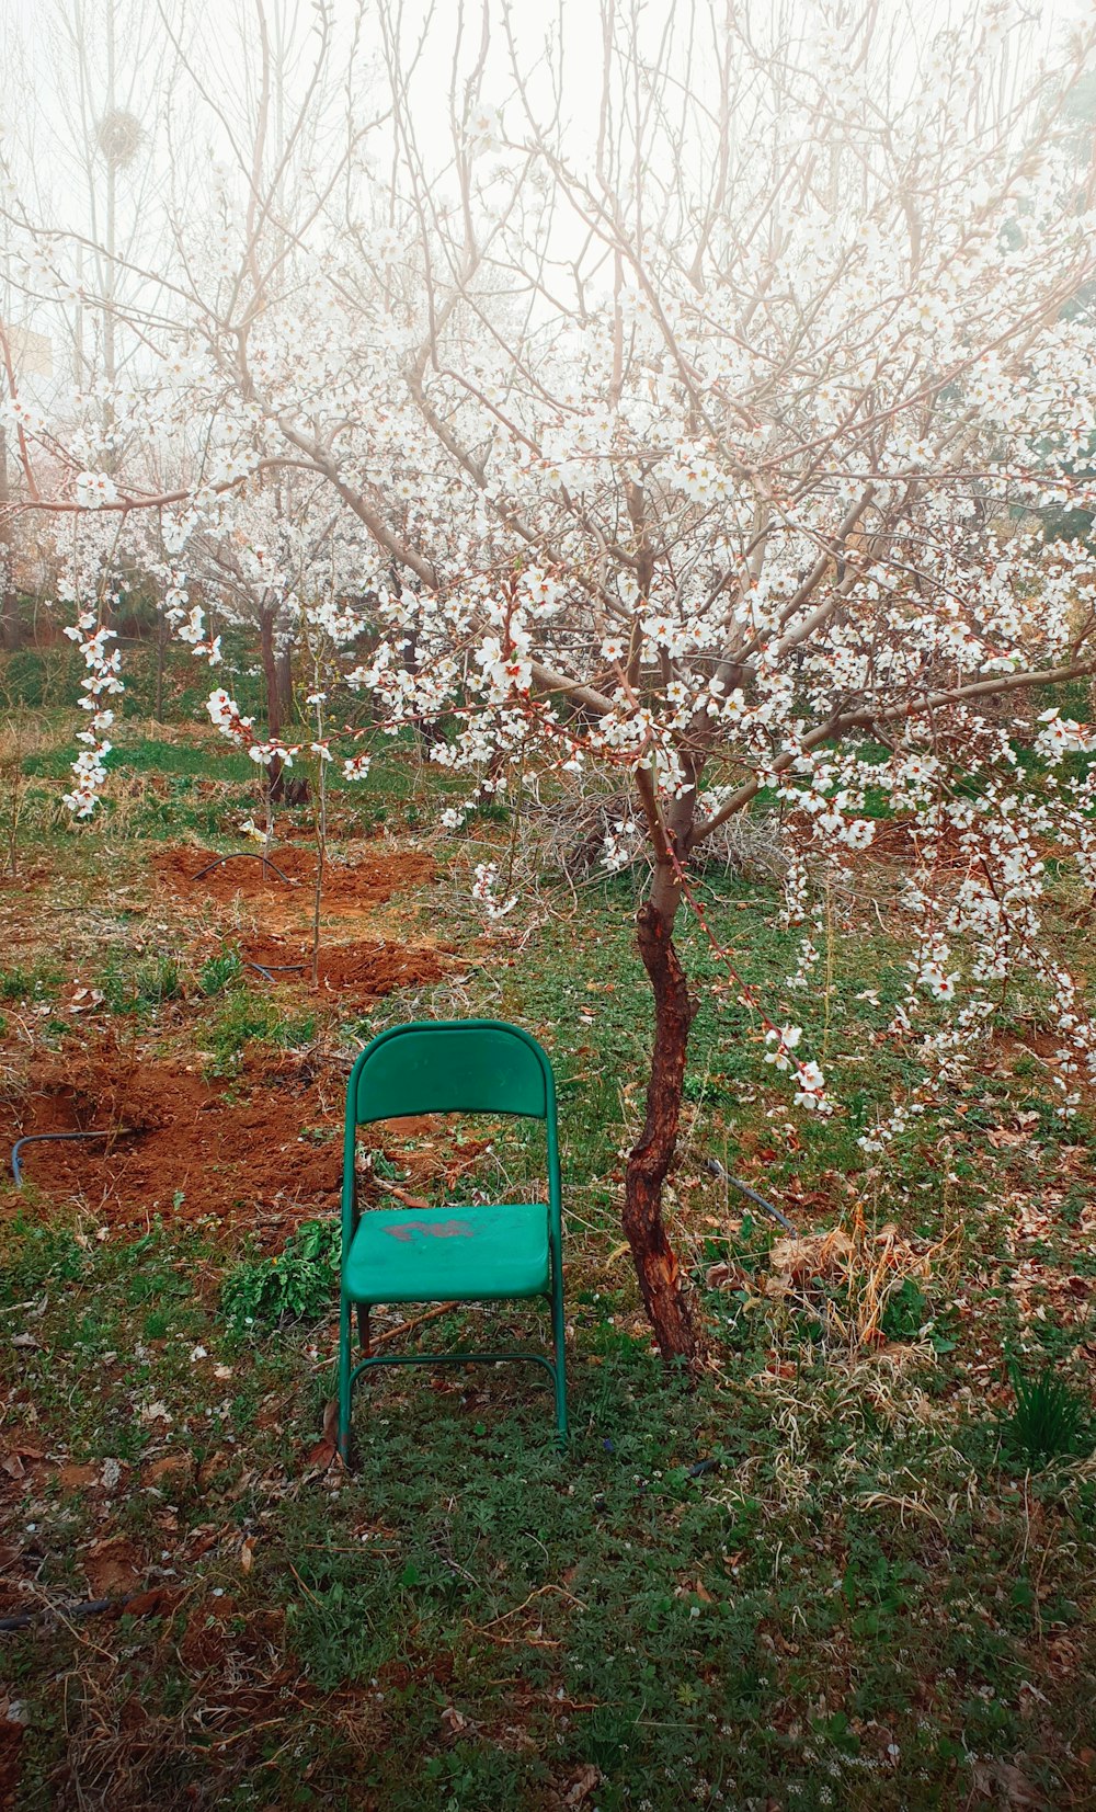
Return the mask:
MULTIPOLYGON (((217 863, 216 868, 210 868, 210 863, 217 863, 210 850, 183 844, 178 850, 165 850, 156 859, 156 873, 176 893, 207 893, 217 901, 230 901, 237 893, 306 899, 315 886, 315 853, 312 850, 277 848, 268 863, 261 859, 257 850, 241 850, 228 861, 217 863), (203 873, 203 870, 207 872, 203 873)), ((353 864, 324 863, 322 897, 328 906, 371 906, 391 899, 400 888, 413 888, 433 881, 433 877, 435 864, 420 850, 371 852, 353 864)))

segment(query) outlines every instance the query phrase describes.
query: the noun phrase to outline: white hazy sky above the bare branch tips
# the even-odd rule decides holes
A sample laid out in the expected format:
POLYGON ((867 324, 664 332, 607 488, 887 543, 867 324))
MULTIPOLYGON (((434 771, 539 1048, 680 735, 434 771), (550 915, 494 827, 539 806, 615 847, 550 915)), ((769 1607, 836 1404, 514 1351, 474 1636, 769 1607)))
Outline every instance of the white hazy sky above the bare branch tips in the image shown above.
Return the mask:
MULTIPOLYGON (((618 14, 627 14, 630 0, 616 0, 618 14)), ((735 0, 741 9, 743 0, 735 0)), ((723 16, 725 0, 647 0, 643 31, 647 45, 659 43, 665 20, 672 14, 685 34, 694 13, 703 42, 710 18, 723 16)), ((1033 45, 1047 45, 1071 20, 1091 14, 1092 0, 1022 0, 1013 11, 1033 22, 1033 45)), ((132 165, 118 179, 118 246, 156 265, 167 257, 163 243, 163 198, 168 187, 185 185, 194 194, 196 217, 208 207, 208 150, 225 156, 228 132, 239 125, 254 98, 257 58, 248 54, 255 42, 255 20, 268 22, 274 43, 288 51, 290 91, 301 89, 315 45, 315 9, 312 0, 0 0, 0 127, 31 212, 63 223, 89 239, 103 234, 105 165, 94 150, 94 129, 107 111, 107 43, 114 22, 116 82, 114 105, 132 111, 145 129, 145 141, 132 165), (241 31, 243 27, 243 31, 241 31), (170 72, 176 53, 172 34, 192 56, 223 109, 217 125, 208 109, 194 105, 192 83, 183 76, 174 85, 170 72), (170 96, 168 96, 170 89, 170 96), (170 101, 172 132, 165 127, 170 101), (174 136, 172 136, 174 134, 174 136)), ((332 0, 337 54, 335 72, 342 74, 355 31, 357 0, 332 0)), ((464 14, 462 71, 475 63, 480 42, 478 0, 393 0, 402 20, 402 56, 408 62, 422 38, 424 20, 431 25, 422 43, 415 85, 415 127, 428 165, 442 169, 449 156, 449 80, 458 20, 464 14)), ((484 76, 484 98, 495 105, 513 100, 513 78, 502 29, 505 0, 489 0, 493 25, 484 76)), ((819 0, 748 0, 757 31, 783 16, 806 36, 832 13, 819 0)), ((853 11, 850 7, 850 11, 853 11)), ((859 11, 859 9, 857 9, 859 11)), ((967 11, 964 0, 880 0, 884 20, 908 33, 911 56, 904 65, 917 80, 917 47, 967 11)), ((976 13, 987 14, 991 0, 976 0, 976 13)), ((596 98, 601 72, 601 22, 598 0, 514 0, 509 7, 511 29, 518 43, 524 72, 540 56, 545 33, 563 43, 563 118, 569 127, 572 159, 582 163, 592 149, 596 98)), ((355 98, 368 100, 371 63, 384 96, 382 40, 377 5, 362 9, 362 72, 355 98)), ((533 92, 536 96, 536 82, 533 92)), ((543 87, 540 89, 543 96, 543 87)), ((246 132, 245 132, 246 140, 246 132)), ((0 223, 0 236, 4 225, 0 223)), ((7 268, 0 239, 0 272, 7 268)), ((89 286, 96 274, 83 274, 89 286)), ((98 286, 98 284, 96 284, 98 286)), ((27 304, 18 295, 5 297, 9 319, 27 319, 27 304)), ((34 326, 51 324, 34 313, 34 326)), ((58 350, 71 337, 72 323, 56 321, 58 350)), ((71 370, 71 357, 58 361, 71 370)))

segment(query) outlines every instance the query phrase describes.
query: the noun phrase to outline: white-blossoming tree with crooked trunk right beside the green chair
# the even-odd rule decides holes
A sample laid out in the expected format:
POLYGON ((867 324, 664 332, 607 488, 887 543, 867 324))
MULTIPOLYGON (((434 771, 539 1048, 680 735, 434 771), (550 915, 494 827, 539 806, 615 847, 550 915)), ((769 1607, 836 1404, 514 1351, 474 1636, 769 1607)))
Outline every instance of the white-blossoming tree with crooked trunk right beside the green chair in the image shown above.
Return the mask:
MULTIPOLYGON (((803 826, 792 986, 875 788, 911 832, 897 1029, 926 1087, 1020 971, 1054 1004, 1063 1111, 1096 1080, 1040 855, 1053 837, 1096 881, 1096 779, 1056 779, 1092 732, 1045 705, 1043 788, 1014 748, 1034 689, 1096 672, 1091 553, 1045 533, 1092 507, 1096 174, 1071 109, 1092 36, 1042 45, 1004 4, 920 38, 873 5, 658 29, 605 5, 576 71, 509 9, 489 24, 467 47, 453 27, 426 136, 437 67, 382 5, 388 92, 337 159, 353 181, 304 172, 290 232, 292 132, 255 132, 225 203, 236 275, 179 284, 172 333, 230 462, 212 482, 292 460, 364 529, 382 634, 348 678, 391 727, 447 719, 433 756, 469 776, 627 779, 603 855, 649 853, 654 1044, 623 1225, 661 1352, 692 1361, 661 1216, 696 1013, 674 928, 696 853, 759 795, 803 826)), ((505 908, 489 870, 476 890, 505 908)), ((757 1009, 795 1102, 826 1113, 801 1029, 757 1009)))

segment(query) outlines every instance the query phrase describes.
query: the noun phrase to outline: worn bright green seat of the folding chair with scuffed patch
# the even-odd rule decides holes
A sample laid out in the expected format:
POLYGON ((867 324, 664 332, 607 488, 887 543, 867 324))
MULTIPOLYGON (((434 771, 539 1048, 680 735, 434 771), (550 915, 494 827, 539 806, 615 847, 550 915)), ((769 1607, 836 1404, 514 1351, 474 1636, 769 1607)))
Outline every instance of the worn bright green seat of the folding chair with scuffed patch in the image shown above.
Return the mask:
POLYGON ((475 1209, 373 1209, 342 1268, 351 1303, 466 1303, 547 1296, 543 1201, 475 1209))

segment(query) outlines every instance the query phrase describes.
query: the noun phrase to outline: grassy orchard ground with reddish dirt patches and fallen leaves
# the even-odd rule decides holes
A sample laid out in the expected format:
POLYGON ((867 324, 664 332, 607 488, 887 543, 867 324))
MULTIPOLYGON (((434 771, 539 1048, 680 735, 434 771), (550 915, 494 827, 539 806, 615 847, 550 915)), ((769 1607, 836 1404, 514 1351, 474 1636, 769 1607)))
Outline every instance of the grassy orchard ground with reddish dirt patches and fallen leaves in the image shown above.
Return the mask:
MULTIPOLYGON (((312 986, 308 810, 277 812, 288 879, 264 872, 239 828, 254 765, 197 727, 185 656, 152 723, 134 656, 105 808, 74 830, 69 660, 5 665, 0 1143, 114 1138, 29 1145, 0 1189, 0 1616, 31 1618, 0 1634, 0 1803, 1091 1807, 1092 1442, 1025 1448, 1009 1363, 1091 1404, 1092 1122, 1058 1116, 1043 1002, 1013 991, 944 1109, 857 1143, 920 1075, 888 1033, 902 826, 833 884, 806 998, 775 884, 697 881, 841 1109, 788 1111, 690 915, 668 1192, 710 1341, 690 1390, 620 1234, 650 1038, 632 879, 545 875, 487 933, 471 875, 522 828, 491 806, 440 841, 446 776, 399 741, 333 785, 312 986), (348 1477, 346 1071, 384 1026, 462 1015, 529 1027, 560 1082, 572 1441, 527 1370, 393 1370, 361 1392, 348 1477), (96 1598, 116 1605, 72 1614, 96 1598)), ((1091 901, 1060 895, 1091 975, 1091 901)), ((536 1138, 500 1122, 366 1143, 377 1203, 538 1189, 536 1138)), ((395 1350, 420 1337, 402 1319, 379 1317, 395 1350)), ((424 1335, 473 1328, 507 1343, 536 1316, 424 1335)))

